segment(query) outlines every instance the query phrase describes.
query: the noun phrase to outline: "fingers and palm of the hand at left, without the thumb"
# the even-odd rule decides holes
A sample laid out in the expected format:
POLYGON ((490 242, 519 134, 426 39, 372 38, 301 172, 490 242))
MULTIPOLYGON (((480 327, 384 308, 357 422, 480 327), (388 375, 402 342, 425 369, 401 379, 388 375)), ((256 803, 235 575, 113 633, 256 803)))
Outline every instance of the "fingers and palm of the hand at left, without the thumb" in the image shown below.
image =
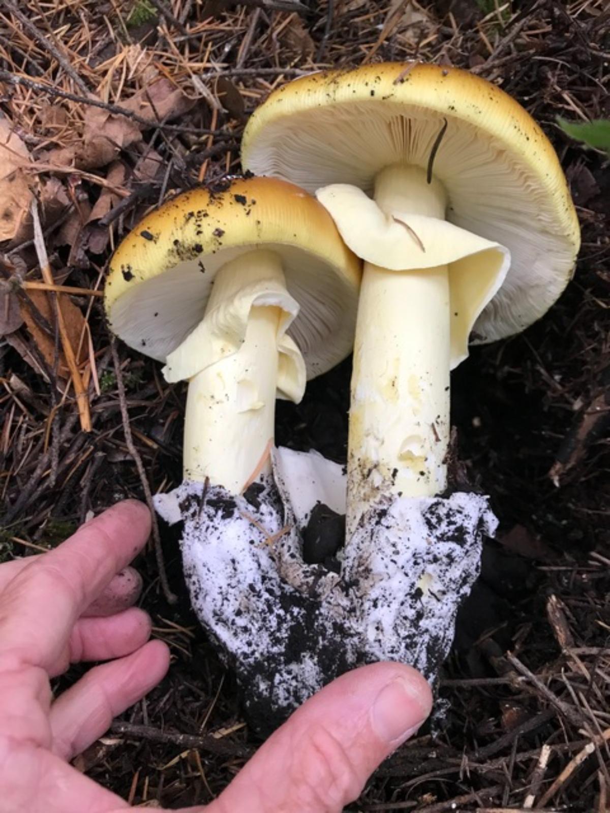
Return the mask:
POLYGON ((68 760, 159 683, 168 648, 150 641, 133 571, 150 514, 120 502, 47 554, 0 565, 0 811, 106 813, 126 802, 68 760), (94 604, 95 602, 95 604, 94 604), (118 610, 118 611, 117 611, 118 610), (54 699, 50 678, 107 660, 54 699))

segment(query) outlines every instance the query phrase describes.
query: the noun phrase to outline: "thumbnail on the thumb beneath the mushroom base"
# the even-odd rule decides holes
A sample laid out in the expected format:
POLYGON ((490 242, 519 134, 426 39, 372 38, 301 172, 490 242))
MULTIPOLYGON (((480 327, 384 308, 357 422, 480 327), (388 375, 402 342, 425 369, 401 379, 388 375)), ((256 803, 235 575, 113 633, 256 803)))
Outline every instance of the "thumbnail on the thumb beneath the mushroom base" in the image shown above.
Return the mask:
POLYGON ((377 695, 371 719, 377 736, 397 747, 416 733, 429 713, 427 698, 422 698, 420 687, 398 677, 377 695))

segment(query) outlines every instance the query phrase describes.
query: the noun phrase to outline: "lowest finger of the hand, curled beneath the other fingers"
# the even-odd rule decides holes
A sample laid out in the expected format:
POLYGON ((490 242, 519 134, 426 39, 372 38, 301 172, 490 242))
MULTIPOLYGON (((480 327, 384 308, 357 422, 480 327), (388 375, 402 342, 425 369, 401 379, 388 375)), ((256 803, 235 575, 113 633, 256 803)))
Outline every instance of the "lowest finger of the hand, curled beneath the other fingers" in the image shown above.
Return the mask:
POLYGON ((89 670, 51 706, 54 753, 63 759, 81 754, 110 728, 116 715, 150 692, 168 667, 168 647, 150 641, 126 658, 89 670))

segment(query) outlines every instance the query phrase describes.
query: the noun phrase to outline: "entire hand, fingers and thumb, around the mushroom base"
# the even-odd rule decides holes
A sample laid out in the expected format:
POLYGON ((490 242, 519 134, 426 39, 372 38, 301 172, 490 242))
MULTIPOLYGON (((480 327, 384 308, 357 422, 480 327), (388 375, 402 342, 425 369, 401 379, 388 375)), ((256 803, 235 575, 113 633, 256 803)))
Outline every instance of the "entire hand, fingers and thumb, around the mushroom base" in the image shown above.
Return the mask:
MULTIPOLYGON (((146 508, 123 502, 49 554, 0 566, 1 813, 129 809, 67 760, 168 667, 165 646, 145 644, 150 622, 142 611, 86 617, 112 576, 141 550, 149 528, 146 508), (72 659, 111 658, 52 702, 49 676, 72 659)), ((377 663, 350 672, 307 701, 216 801, 197 810, 341 811, 419 728, 430 705, 428 685, 409 667, 377 663)))

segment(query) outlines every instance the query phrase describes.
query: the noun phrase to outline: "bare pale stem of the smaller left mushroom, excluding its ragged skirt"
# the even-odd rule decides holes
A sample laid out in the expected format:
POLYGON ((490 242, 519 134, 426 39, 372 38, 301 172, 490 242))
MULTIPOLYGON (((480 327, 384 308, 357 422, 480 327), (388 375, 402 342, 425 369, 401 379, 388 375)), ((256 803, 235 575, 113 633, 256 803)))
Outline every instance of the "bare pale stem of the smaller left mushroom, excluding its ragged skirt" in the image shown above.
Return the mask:
MULTIPOLYGON (((216 276, 203 319, 213 319, 245 285, 270 279, 285 285, 281 260, 272 251, 254 250, 231 260, 216 276)), ((281 315, 280 307, 252 307, 237 353, 190 379, 185 480, 209 478, 211 485, 240 493, 251 476, 271 471, 281 315)), ((223 348, 218 350, 222 355, 223 348)))

